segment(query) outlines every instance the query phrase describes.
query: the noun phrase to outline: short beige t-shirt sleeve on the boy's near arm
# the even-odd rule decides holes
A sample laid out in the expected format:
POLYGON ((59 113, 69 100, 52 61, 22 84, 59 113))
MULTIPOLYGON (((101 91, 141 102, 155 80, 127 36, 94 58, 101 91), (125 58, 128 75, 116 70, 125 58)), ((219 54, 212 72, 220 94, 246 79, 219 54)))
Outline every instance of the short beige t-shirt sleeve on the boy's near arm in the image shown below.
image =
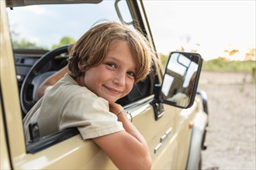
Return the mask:
POLYGON ((74 94, 59 120, 60 130, 77 127, 83 139, 124 130, 122 122, 109 112, 108 102, 94 93, 74 94))

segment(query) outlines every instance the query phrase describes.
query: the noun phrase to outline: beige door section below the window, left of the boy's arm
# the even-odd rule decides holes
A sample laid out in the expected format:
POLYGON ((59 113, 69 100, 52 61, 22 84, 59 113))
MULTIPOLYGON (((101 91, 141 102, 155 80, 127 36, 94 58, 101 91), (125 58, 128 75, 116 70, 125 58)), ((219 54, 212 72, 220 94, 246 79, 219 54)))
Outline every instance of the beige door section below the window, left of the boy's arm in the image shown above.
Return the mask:
POLYGON ((116 168, 108 156, 92 140, 80 134, 57 145, 16 158, 17 169, 99 169, 116 168))

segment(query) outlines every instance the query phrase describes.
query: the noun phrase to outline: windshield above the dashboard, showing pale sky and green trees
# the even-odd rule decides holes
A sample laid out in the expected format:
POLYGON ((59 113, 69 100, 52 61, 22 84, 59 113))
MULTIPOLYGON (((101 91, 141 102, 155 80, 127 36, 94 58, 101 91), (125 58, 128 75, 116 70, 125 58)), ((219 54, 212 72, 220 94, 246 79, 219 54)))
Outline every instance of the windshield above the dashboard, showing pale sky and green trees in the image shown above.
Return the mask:
MULTIPOLYGON (((131 19, 126 2, 119 5, 131 19)), ((75 42, 99 22, 118 21, 115 1, 99 4, 29 5, 7 8, 13 49, 55 49, 75 42)))

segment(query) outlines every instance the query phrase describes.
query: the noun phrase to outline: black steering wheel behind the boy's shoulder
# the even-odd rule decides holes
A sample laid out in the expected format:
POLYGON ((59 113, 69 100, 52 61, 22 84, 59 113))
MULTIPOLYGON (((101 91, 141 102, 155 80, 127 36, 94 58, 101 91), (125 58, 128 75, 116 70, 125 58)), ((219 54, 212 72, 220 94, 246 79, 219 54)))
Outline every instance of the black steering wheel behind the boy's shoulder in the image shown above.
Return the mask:
POLYGON ((22 83, 21 92, 20 92, 20 101, 22 106, 23 114, 26 115, 29 110, 33 107, 34 104, 39 100, 37 97, 37 89, 48 76, 54 74, 56 71, 47 71, 43 72, 43 66, 46 66, 50 60, 54 59, 56 56, 61 55, 62 53, 67 53, 68 46, 61 46, 57 49, 54 49, 36 61, 36 63, 31 67, 29 72, 26 74, 26 77, 22 83))

